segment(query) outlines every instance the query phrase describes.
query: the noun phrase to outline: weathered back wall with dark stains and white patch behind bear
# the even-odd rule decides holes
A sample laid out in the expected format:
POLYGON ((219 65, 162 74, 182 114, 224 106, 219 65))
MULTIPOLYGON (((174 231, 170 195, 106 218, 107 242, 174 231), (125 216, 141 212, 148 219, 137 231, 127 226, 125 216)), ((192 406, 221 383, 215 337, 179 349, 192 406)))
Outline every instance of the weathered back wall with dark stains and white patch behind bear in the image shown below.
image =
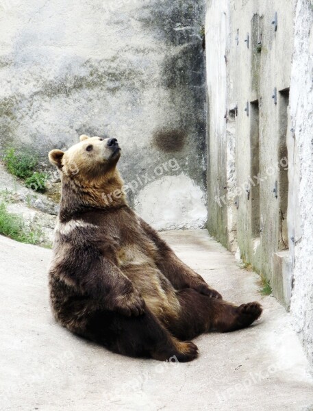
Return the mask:
POLYGON ((131 205, 161 229, 203 227, 203 24, 201 0, 0 1, 1 147, 46 162, 114 136, 131 205))

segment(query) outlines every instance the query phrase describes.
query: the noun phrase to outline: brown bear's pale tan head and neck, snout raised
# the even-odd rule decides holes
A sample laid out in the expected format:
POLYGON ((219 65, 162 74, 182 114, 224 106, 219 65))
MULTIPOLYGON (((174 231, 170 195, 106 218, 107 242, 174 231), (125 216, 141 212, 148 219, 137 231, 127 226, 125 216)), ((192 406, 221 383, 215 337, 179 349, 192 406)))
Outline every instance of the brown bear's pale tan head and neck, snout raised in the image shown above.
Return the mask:
MULTIPOLYGON (((62 203, 66 208, 108 206, 108 195, 121 190, 121 179, 116 164, 121 148, 116 138, 80 136, 80 142, 67 151, 52 150, 49 161, 56 166, 62 177, 62 203)), ((125 200, 122 192, 112 203, 125 200)))

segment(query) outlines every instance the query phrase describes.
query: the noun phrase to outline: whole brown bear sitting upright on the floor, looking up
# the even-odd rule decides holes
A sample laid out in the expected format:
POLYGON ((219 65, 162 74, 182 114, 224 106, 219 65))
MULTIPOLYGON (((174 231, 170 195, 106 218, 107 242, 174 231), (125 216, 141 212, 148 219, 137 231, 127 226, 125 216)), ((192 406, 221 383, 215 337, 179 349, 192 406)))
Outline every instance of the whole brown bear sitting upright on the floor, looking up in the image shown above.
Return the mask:
POLYGON ((181 362, 197 357, 190 340, 199 334, 258 319, 259 303, 224 301, 129 208, 116 138, 80 140, 49 153, 62 178, 49 271, 55 318, 116 353, 181 362))

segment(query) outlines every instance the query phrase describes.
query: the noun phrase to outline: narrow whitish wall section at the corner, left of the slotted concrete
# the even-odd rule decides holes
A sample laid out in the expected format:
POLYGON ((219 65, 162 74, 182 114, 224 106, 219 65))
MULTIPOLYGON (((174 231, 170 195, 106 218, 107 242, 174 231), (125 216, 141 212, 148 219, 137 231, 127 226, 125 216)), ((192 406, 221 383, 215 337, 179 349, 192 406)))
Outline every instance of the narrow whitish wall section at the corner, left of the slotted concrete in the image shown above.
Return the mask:
POLYGON ((229 41, 228 0, 208 1, 205 37, 208 90, 208 229, 229 247, 227 208, 216 198, 227 186, 227 73, 224 55, 229 41))

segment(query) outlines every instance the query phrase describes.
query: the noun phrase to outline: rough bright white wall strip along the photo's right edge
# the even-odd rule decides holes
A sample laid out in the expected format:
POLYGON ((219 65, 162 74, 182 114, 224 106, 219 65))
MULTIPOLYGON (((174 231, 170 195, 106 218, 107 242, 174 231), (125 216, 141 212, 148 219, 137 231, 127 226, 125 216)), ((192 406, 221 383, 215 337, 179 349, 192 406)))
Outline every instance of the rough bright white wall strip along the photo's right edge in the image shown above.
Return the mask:
POLYGON ((292 61, 288 232, 294 267, 291 313, 313 362, 313 2, 298 0, 292 61))

